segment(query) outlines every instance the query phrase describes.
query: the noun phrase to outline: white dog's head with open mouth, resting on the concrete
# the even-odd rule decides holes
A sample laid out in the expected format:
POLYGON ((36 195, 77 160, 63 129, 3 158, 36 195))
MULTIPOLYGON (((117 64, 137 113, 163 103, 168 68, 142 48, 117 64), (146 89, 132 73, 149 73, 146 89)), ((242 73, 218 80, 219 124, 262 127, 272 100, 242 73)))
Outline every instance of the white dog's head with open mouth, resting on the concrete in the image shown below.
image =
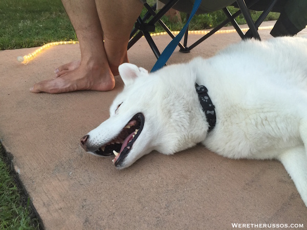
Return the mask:
MULTIPOLYGON (((191 124, 202 117, 191 116, 201 110, 192 108, 199 104, 193 83, 192 92, 186 94, 190 84, 185 80, 174 83, 168 78, 176 73, 164 69, 149 74, 133 64, 119 66, 125 87, 111 105, 109 119, 80 140, 85 151, 99 156, 115 155, 113 163, 121 169, 152 150, 172 154, 199 143, 200 135, 206 136, 205 125, 191 124)), ((183 79, 188 77, 191 76, 183 79)))

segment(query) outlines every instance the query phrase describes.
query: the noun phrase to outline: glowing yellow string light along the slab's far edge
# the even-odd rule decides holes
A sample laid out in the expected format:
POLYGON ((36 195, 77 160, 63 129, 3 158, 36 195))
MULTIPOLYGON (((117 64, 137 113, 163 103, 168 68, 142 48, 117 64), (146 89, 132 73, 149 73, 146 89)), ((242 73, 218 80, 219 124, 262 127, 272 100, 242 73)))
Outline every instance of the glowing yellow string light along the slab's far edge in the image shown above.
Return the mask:
MULTIPOLYGON (((258 30, 268 30, 268 29, 273 29, 273 26, 268 26, 268 27, 259 27, 258 30)), ((244 28, 242 29, 242 31, 246 32, 248 31, 249 28, 244 28)), ((188 34, 208 34, 210 31, 208 30, 192 30, 192 31, 188 31, 188 34)), ((233 30, 218 30, 215 33, 216 34, 222 34, 222 33, 234 33, 236 32, 235 29, 233 30)), ((180 31, 172 31, 171 32, 173 35, 177 35, 180 33, 180 31)), ((159 32, 159 33, 151 33, 150 36, 159 36, 159 35, 166 35, 166 32, 159 32)), ((55 42, 50 42, 47 43, 45 45, 43 45, 42 47, 38 48, 37 50, 35 50, 33 53, 25 55, 25 56, 18 56, 17 57, 17 61, 23 63, 23 64, 28 64, 28 62, 30 60, 32 60, 33 58, 35 58, 37 56, 37 54, 39 54, 40 52, 42 52, 42 50, 49 48, 49 47, 53 47, 54 45, 60 45, 60 44, 77 44, 79 43, 79 41, 55 41, 55 42)))

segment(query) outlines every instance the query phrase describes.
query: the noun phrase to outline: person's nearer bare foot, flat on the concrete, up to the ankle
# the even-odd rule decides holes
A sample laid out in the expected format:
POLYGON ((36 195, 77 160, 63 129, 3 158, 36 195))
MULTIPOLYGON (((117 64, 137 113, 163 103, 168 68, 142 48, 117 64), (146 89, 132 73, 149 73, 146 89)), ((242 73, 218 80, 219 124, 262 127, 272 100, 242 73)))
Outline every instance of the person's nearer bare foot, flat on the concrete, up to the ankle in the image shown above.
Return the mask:
POLYGON ((89 65, 79 63, 79 67, 75 68, 75 70, 63 73, 56 78, 36 83, 30 91, 32 93, 58 94, 76 90, 108 91, 112 90, 114 86, 114 75, 108 65, 92 65, 92 67, 89 67, 89 65))

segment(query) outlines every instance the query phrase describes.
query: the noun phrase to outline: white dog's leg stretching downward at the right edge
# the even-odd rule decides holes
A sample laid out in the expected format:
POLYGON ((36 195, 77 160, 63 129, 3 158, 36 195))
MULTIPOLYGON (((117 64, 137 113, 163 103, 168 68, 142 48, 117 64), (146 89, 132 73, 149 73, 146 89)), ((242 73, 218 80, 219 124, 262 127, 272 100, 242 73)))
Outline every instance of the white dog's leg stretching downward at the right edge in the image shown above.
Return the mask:
POLYGON ((307 155, 304 146, 297 146, 282 153, 278 159, 290 174, 307 206, 307 155))

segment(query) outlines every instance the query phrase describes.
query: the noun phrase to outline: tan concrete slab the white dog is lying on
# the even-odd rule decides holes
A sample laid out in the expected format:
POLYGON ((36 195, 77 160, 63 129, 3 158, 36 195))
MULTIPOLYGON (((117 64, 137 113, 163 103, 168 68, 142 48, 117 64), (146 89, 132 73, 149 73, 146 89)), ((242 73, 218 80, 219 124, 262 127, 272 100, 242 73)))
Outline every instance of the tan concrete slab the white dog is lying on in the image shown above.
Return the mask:
MULTIPOLYGON (((307 34, 306 29, 300 34, 307 34)), ((260 30, 260 35, 270 38, 269 30, 260 30)), ((161 50, 170 41, 167 35, 153 39, 161 50)), ((215 34, 189 54, 176 51, 168 63, 210 57, 239 40, 236 33, 215 34)), ((34 82, 53 77, 56 67, 80 58, 75 44, 50 48, 28 65, 16 61, 35 49, 0 52, 0 138, 13 154, 15 170, 46 229, 307 225, 307 209, 294 183, 273 160, 231 160, 199 145, 173 156, 153 152, 118 171, 112 158, 84 153, 80 137, 108 118, 123 83, 117 77, 110 92, 32 94, 34 82)), ((128 55, 131 63, 148 70, 156 61, 144 38, 128 55)))

